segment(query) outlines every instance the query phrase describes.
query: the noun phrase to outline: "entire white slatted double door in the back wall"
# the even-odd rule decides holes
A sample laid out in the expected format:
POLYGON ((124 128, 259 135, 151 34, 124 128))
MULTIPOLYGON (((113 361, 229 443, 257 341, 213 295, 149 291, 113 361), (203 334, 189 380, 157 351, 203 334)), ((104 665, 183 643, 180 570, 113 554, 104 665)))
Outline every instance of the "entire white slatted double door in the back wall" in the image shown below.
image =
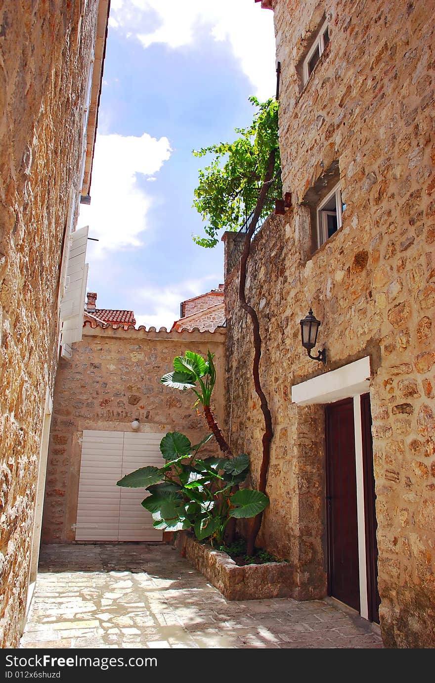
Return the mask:
POLYGON ((84 430, 76 541, 161 541, 150 512, 141 507, 143 488, 116 482, 139 467, 161 467, 163 434, 84 430))

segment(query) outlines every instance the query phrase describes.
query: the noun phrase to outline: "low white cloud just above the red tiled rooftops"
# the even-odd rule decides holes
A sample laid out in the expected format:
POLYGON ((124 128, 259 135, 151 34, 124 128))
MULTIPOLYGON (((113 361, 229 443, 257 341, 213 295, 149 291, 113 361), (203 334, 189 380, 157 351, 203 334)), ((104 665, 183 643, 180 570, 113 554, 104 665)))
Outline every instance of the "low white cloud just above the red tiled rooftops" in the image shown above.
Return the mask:
POLYGON ((135 310, 136 326, 146 329, 166 327, 169 331, 173 322, 180 318, 180 303, 199 294, 209 292, 218 286, 219 275, 207 275, 201 279, 186 280, 165 287, 148 286, 135 294, 140 308, 135 310), (142 313, 142 311, 146 311, 142 313))

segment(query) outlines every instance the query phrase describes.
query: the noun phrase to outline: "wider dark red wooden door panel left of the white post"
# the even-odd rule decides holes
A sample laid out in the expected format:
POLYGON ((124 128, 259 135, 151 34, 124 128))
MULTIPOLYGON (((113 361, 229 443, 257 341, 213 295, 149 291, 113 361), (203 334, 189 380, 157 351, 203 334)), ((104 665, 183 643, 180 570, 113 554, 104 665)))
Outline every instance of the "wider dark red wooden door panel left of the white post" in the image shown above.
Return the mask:
POLYGON ((328 593, 358 610, 359 558, 353 399, 326 406, 328 593))

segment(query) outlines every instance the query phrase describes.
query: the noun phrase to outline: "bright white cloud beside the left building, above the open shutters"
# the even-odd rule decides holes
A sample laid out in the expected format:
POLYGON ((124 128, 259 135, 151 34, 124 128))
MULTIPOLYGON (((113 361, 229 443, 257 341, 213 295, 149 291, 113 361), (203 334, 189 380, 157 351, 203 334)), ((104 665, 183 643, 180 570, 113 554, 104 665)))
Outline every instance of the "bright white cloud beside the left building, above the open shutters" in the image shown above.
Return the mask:
POLYGON ((89 206, 81 205, 79 216, 79 227, 89 225, 90 236, 99 240, 96 256, 141 245, 152 199, 141 188, 138 176, 154 178, 170 155, 166 137, 97 135, 92 201, 89 206))

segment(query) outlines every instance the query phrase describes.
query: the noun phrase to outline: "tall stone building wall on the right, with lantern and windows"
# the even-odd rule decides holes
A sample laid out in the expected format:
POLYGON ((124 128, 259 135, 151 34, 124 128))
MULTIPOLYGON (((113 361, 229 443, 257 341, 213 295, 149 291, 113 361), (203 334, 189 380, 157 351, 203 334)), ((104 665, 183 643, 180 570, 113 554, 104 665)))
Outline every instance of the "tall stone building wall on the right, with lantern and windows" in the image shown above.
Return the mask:
MULTIPOLYGON (((249 266, 275 430, 259 542, 295 563, 301 594, 306 585, 322 594, 322 408, 291 404, 291 387, 369 354, 382 636, 388 647, 434 647, 435 4, 273 4, 283 189, 294 208, 264 226, 249 266), (323 14, 331 42, 303 88, 296 66, 323 14), (317 249, 302 202, 333 161, 343 227, 317 249), (310 306, 326 368, 300 344, 310 306)), ((227 404, 232 445, 251 454, 255 479, 262 416, 236 280, 225 283, 227 404)))

